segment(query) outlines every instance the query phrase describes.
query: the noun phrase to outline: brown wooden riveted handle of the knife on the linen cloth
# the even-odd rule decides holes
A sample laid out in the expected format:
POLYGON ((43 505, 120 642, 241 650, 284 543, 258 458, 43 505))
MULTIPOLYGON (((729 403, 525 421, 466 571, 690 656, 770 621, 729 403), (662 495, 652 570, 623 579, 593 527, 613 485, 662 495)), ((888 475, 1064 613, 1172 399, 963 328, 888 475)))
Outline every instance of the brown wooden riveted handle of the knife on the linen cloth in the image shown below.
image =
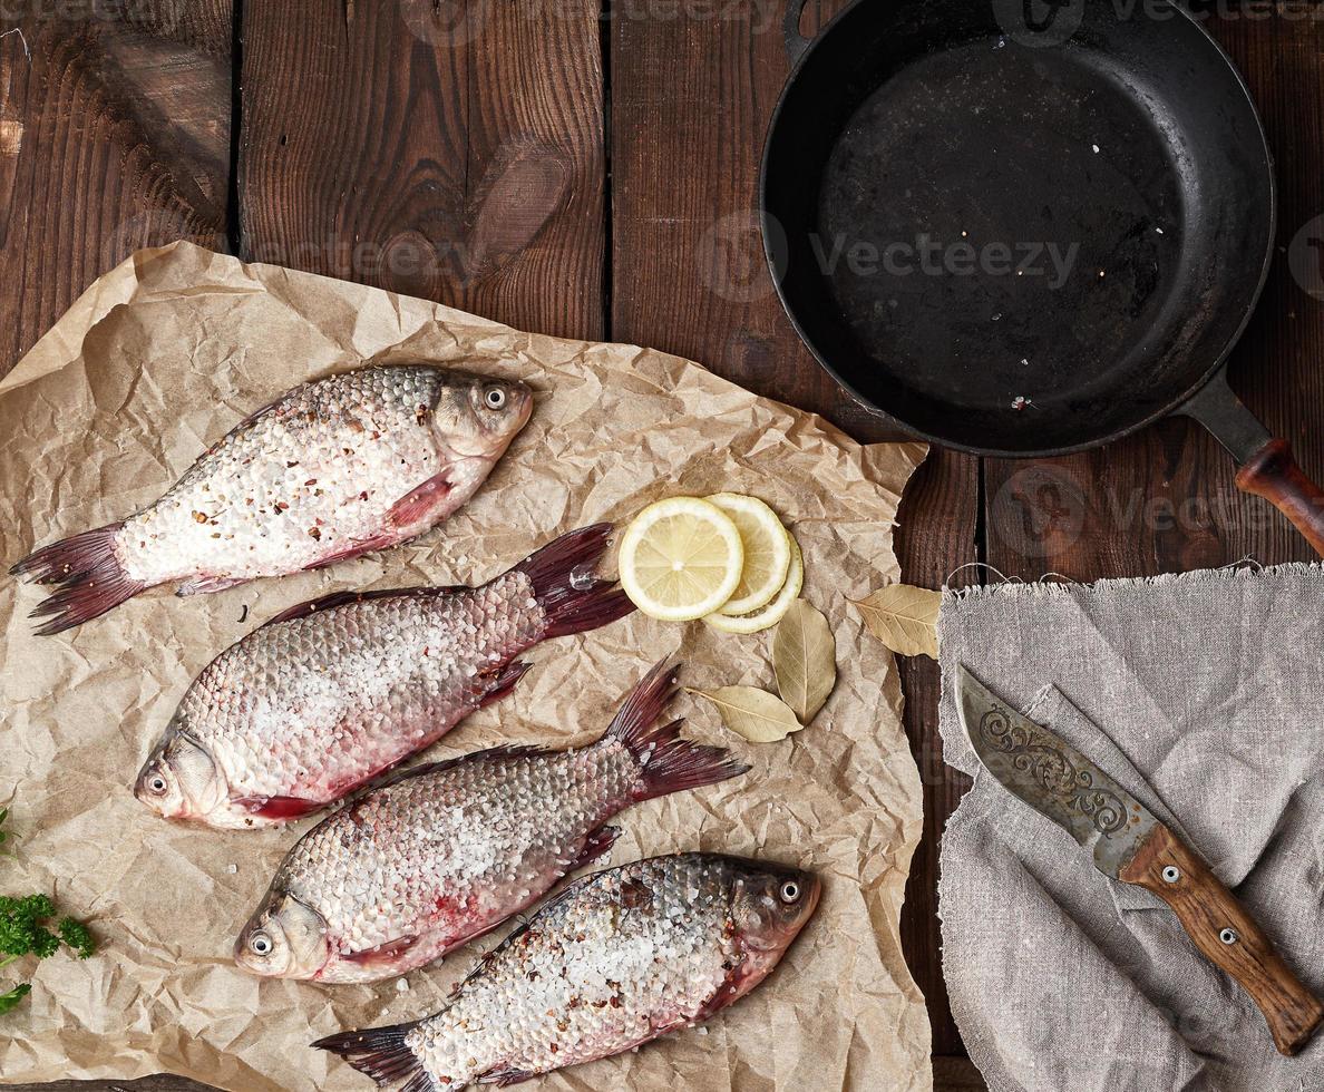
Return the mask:
POLYGON ((1119 876, 1152 891, 1177 913, 1181 927, 1226 970, 1268 1021, 1274 1046, 1286 1055, 1309 1042, 1324 1006, 1292 974, 1246 908, 1200 856, 1168 827, 1155 827, 1119 876))

